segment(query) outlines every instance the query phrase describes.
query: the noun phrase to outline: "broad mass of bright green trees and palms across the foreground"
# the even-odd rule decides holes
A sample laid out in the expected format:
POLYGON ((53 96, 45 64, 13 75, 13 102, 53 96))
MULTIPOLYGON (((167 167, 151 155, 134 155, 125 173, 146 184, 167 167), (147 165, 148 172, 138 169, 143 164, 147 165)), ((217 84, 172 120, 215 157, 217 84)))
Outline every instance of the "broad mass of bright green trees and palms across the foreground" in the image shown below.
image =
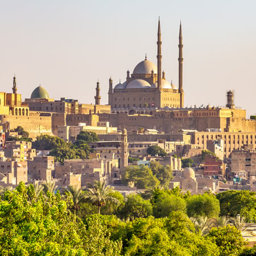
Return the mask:
POLYGON ((1 255, 255 253, 244 247, 242 229, 217 217, 218 200, 209 193, 155 188, 124 199, 102 182, 61 193, 54 183, 0 189, 1 255), (99 205, 101 213, 115 215, 95 214, 99 205))

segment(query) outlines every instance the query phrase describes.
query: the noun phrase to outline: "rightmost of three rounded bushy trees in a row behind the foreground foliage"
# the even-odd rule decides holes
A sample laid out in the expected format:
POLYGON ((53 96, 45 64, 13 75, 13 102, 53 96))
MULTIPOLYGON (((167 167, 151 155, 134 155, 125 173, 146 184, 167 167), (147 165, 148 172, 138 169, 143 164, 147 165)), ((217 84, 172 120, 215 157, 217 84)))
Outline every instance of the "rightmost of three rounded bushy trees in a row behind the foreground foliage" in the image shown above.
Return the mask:
POLYGON ((209 193, 194 195, 187 199, 187 214, 189 217, 218 217, 218 214, 220 214, 220 203, 214 195, 209 193))

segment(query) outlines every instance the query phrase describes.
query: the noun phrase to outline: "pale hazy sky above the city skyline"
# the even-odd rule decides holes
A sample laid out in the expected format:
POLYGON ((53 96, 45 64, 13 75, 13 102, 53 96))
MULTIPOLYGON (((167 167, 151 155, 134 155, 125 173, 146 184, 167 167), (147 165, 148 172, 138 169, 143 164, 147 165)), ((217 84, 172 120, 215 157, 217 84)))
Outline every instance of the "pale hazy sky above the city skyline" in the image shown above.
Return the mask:
POLYGON ((15 73, 22 100, 43 86, 50 98, 108 104, 109 78, 144 59, 156 64, 158 18, 162 69, 178 85, 179 23, 183 30, 185 106, 235 105, 256 114, 255 0, 0 0, 0 91, 15 73))

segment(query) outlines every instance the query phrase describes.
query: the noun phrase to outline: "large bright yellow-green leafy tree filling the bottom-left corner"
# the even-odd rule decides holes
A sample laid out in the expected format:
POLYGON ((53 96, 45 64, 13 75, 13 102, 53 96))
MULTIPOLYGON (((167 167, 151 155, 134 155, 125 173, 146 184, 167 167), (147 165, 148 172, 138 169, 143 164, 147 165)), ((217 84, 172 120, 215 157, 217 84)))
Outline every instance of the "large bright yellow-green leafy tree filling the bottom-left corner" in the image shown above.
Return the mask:
POLYGON ((42 194, 27 201, 28 188, 20 183, 0 201, 1 255, 120 255, 122 243, 111 241, 97 217, 86 225, 67 209, 60 194, 42 194))

